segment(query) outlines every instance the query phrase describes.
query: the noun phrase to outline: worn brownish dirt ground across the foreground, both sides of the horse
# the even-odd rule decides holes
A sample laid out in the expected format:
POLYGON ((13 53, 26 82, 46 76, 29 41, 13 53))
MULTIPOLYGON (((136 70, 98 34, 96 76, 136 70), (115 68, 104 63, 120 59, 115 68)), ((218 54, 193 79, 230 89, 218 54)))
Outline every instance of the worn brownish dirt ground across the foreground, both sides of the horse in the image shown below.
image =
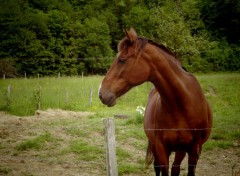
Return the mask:
MULTIPOLYGON (((88 112, 72 112, 63 110, 37 111, 32 117, 17 117, 0 112, 0 175, 38 175, 38 176, 76 176, 76 175, 105 175, 105 159, 102 162, 79 159, 79 155, 68 153, 66 146, 73 139, 66 133, 66 126, 71 125, 72 130, 86 129, 86 117, 92 115, 88 112), (76 126, 76 122, 78 122, 76 126), (82 123, 80 123, 82 122, 82 123), (75 128, 76 127, 76 128, 75 128), (46 141, 40 150, 18 151, 16 146, 25 139, 49 131, 56 139, 46 141)), ((100 124, 102 125, 102 124, 100 124)), ((71 131, 72 132, 72 131, 71 131)), ((88 139, 83 131, 82 138, 88 139)), ((102 133, 93 132, 94 140, 102 140, 102 133)), ((81 139, 81 138, 78 138, 81 139)), ((90 140, 90 138, 89 138, 90 140)), ((99 142, 99 141, 98 141, 99 142)), ((135 153, 131 146, 123 145, 135 153)), ((145 151, 136 151, 136 155, 144 159, 145 151)), ((210 176, 240 176, 240 148, 214 149, 203 151, 197 166, 197 175, 210 176)), ((187 174, 187 159, 181 167, 181 175, 187 174)), ((140 175, 154 175, 152 168, 143 171, 140 175)), ((125 174, 139 175, 139 174, 125 174)))

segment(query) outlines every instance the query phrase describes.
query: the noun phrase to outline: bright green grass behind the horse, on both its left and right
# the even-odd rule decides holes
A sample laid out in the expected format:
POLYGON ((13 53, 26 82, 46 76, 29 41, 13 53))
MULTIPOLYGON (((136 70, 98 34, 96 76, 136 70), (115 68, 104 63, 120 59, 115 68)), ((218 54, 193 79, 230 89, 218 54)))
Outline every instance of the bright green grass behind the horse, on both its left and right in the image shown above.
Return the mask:
MULTIPOLYGON (((137 106, 145 106, 151 83, 133 88, 117 100, 117 105, 108 108, 98 98, 98 88, 102 76, 62 77, 40 79, 0 80, 0 110, 14 115, 33 115, 38 108, 60 108, 73 111, 93 111, 97 117, 109 117, 114 114, 127 114, 131 118, 128 125, 142 128, 142 121, 136 112, 137 106), (10 97, 7 88, 11 85, 10 97), (41 86, 40 93, 39 85, 41 86), (92 91, 92 102, 90 92, 92 91), (38 97, 40 96, 40 98, 38 97)), ((228 148, 240 143, 240 74, 217 73, 197 75, 202 89, 209 100, 214 114, 211 139, 204 146, 212 149, 216 146, 228 148)))

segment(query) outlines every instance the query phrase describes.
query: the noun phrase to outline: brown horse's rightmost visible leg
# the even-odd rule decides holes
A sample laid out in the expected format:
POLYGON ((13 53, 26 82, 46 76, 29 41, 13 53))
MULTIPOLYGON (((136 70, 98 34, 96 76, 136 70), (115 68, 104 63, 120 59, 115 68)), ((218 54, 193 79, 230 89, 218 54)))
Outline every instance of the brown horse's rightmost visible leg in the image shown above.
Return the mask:
POLYGON ((201 147, 196 145, 191 152, 188 153, 188 176, 195 176, 197 162, 201 153, 201 147))

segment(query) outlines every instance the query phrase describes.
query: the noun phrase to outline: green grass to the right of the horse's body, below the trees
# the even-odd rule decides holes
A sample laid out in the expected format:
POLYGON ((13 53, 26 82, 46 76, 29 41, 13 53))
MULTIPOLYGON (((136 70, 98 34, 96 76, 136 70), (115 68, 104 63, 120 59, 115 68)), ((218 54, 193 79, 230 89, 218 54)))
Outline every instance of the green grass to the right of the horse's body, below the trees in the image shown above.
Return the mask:
POLYGON ((198 75, 213 110, 213 130, 205 149, 229 148, 240 143, 240 74, 198 75))

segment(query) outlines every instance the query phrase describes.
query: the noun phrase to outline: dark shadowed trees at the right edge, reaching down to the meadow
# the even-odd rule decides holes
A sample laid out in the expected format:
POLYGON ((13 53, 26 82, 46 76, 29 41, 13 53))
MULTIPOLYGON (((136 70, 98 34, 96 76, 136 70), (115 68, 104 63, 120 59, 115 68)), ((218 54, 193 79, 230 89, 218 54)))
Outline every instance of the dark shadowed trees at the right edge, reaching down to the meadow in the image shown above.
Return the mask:
POLYGON ((219 43, 218 53, 214 53, 218 57, 210 62, 221 60, 218 70, 240 70, 240 1, 203 0, 198 7, 212 40, 219 43))

